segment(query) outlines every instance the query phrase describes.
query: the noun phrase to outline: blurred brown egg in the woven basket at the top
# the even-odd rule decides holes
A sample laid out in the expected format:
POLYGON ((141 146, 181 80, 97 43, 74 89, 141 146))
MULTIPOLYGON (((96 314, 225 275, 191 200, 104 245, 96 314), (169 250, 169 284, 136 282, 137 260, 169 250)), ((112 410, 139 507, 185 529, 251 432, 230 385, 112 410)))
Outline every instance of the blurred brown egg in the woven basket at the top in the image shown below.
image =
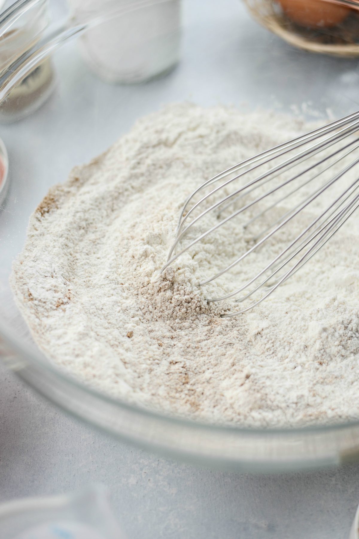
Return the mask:
POLYGON ((287 17, 308 28, 340 24, 351 9, 326 0, 277 0, 287 17))

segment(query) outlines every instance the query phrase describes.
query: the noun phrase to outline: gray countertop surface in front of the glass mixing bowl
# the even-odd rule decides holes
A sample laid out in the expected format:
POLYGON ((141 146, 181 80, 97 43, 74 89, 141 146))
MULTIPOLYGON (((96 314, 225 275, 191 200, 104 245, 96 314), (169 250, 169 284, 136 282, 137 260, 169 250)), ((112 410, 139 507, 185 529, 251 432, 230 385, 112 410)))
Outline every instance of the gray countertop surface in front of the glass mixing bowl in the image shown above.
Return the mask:
POLYGON ((251 475, 196 468, 107 438, 0 370, 0 501, 103 483, 129 539, 347 539, 359 465, 251 475))

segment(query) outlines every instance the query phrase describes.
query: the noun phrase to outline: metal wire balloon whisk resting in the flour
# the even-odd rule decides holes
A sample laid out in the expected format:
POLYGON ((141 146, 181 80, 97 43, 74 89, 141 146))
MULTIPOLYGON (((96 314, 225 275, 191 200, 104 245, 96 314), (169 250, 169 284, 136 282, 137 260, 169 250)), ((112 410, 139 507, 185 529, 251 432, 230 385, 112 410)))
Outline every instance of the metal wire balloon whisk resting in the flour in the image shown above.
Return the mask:
POLYGON ((359 167, 355 169, 359 165, 358 130, 359 112, 356 112, 263 151, 208 179, 187 198, 161 272, 209 234, 218 233, 221 227, 231 226, 230 230, 238 232, 235 219, 243 218, 246 212, 249 218, 241 222, 243 233, 247 234, 251 226, 264 221, 262 230, 251 237, 247 250, 238 253, 238 258, 200 284, 205 285, 230 272, 250 255, 256 255, 276 234, 282 234, 283 240, 285 227, 290 232, 295 231, 295 219, 305 215, 308 224, 295 231, 294 237, 283 248, 280 246, 280 252, 264 261, 253 277, 221 298, 208 301, 228 300, 239 295, 236 302, 242 302, 255 294, 249 306, 222 315, 234 316, 268 298, 306 264, 358 208, 359 167), (338 181, 339 193, 335 192, 338 181), (319 197, 324 197, 325 209, 317 207, 315 210, 319 197), (284 210, 283 204, 286 204, 284 210), (313 206, 316 215, 313 215, 313 206), (208 226, 208 218, 213 219, 213 224, 202 231, 201 221, 208 226))

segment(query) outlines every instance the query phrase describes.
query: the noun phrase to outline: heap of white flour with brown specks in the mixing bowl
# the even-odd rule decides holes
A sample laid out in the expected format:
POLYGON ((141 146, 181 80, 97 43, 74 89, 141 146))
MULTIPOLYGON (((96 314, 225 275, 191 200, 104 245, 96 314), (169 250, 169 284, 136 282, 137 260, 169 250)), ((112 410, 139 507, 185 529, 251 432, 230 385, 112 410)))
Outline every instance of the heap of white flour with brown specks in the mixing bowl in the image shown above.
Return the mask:
POLYGON ((198 284, 241 251, 240 235, 225 247, 210 237, 153 279, 196 186, 305 130, 269 113, 172 105, 75 168, 34 212, 13 265, 39 347, 96 388, 165 412, 254 426, 359 417, 359 215, 233 319, 205 299, 226 281, 198 284))

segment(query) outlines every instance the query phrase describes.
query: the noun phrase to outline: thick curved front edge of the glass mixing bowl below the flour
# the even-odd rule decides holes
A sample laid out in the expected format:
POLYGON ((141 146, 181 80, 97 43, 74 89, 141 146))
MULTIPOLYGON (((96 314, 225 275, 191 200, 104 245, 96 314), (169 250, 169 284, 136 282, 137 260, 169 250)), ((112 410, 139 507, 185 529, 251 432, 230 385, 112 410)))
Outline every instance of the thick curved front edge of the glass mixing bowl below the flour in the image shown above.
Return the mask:
MULTIPOLYGON (((1 322, 0 336, 3 338, 4 343, 8 344, 12 349, 9 350, 10 356, 12 351, 14 351, 16 354, 15 362, 10 358, 10 368, 12 368, 15 374, 19 376, 23 381, 32 386, 32 388, 36 389, 36 391, 40 393, 40 395, 45 397, 50 402, 58 405, 62 410, 71 414, 71 416, 75 417, 76 419, 81 419, 91 427, 96 427, 97 430, 100 430, 107 434, 111 434, 118 439, 131 441, 133 444, 139 447, 160 452, 165 456, 172 458, 177 456, 181 460, 187 460, 189 462, 195 462, 197 464, 210 466, 214 465, 220 467, 224 466, 229 469, 242 468, 243 471, 259 472, 269 470, 284 471, 287 469, 288 471, 293 471, 295 469, 302 468, 318 468, 321 466, 344 464, 346 462, 353 462, 359 459, 359 420, 323 425, 258 428, 238 426, 236 424, 220 425, 205 422, 203 420, 175 416, 174 414, 171 415, 161 411, 148 410, 140 405, 130 404, 120 398, 111 398, 110 396, 105 395, 104 393, 97 391, 94 388, 91 388, 80 380, 72 378, 71 376, 66 375, 64 372, 61 372, 45 356, 44 358, 42 358, 41 355, 37 354, 35 351, 29 353, 29 350, 26 350, 25 345, 19 343, 15 334, 11 334, 8 329, 5 329, 2 326, 1 322), (33 367, 35 368, 34 371, 32 371, 31 369, 33 367), (36 367, 38 367, 39 369, 37 370, 36 367), (44 375, 43 379, 37 378, 39 373, 40 375, 44 375), (48 381, 48 374, 50 374, 50 376, 53 378, 52 386, 43 385, 44 381, 48 381), (62 384, 65 386, 65 389, 70 389, 74 391, 73 396, 68 392, 66 392, 65 395, 61 391, 58 394, 55 394, 53 391, 57 390, 56 387, 54 388, 54 386, 57 384, 62 384), (303 442, 305 440, 305 437, 308 437, 308 442, 309 444, 311 444, 311 435, 332 435, 333 433, 342 432, 347 429, 351 431, 353 430, 353 428, 358 432, 356 433, 356 438, 353 438, 353 432, 350 432, 350 439, 353 441, 353 444, 349 444, 349 446, 347 448, 344 448, 344 450, 331 451, 329 455, 323 455, 322 452, 318 452, 318 448, 316 448, 314 452, 312 451, 313 454, 308 453, 306 455, 309 458, 301 458, 299 455, 295 455, 293 458, 288 459, 288 457, 291 457, 291 455, 288 455, 287 451, 285 451, 283 455, 274 454, 274 459, 271 458, 271 456, 268 455, 266 451, 264 452, 263 458, 256 458, 253 460, 251 458, 246 458, 244 455, 238 455, 238 457, 236 457, 236 450, 230 455, 223 454, 219 456, 218 454, 212 454, 212 451, 209 451, 206 454, 206 452, 203 452, 203 447, 188 448, 186 446, 186 448, 184 448, 180 447, 179 445, 176 447, 174 445, 174 441, 170 444, 168 444, 168 441, 166 443, 163 443, 163 440, 160 440, 158 437, 159 432, 154 436, 154 438, 149 437, 147 434, 144 434, 144 436, 138 436, 138 434, 141 434, 140 432, 124 433, 118 428, 114 428, 113 422, 111 422, 112 427, 109 425, 109 423, 103 424, 103 422, 99 420, 101 419, 101 417, 103 417, 103 414, 102 416, 99 416, 99 418, 95 418, 94 420, 93 409, 87 408, 86 402, 85 406, 83 406, 83 403, 82 407, 77 406, 80 402, 79 397, 81 397, 81 395, 89 397, 94 404, 96 404, 96 402, 100 402, 104 405, 109 405, 112 409, 115 409, 117 411, 128 411, 133 414, 132 419, 138 419, 138 417, 140 417, 144 421, 154 420, 159 423, 161 429, 163 429, 167 425, 170 427, 175 427, 175 431, 178 432, 180 432, 181 428, 187 430, 189 429, 190 436, 191 433, 200 433, 200 436, 201 434, 210 433, 212 437, 215 434, 218 434, 219 436, 221 436, 221 434, 225 434, 229 435, 229 438, 231 439, 233 439, 233 437, 235 436, 237 439, 242 441, 245 440, 245 437, 248 437, 250 439, 250 445, 253 443, 263 443, 264 440, 271 441, 276 437, 279 437, 281 440, 278 440, 279 446, 283 441, 286 440, 286 438, 288 446, 291 446, 293 443, 298 444, 303 442), (74 402, 72 400, 68 400, 66 402, 65 398, 61 398, 67 398, 69 396, 71 398, 74 397, 74 402), (72 403, 71 406, 69 405, 70 402, 72 403), (298 438, 298 436, 299 439, 297 440, 288 439, 288 437, 298 438)), ((219 440, 221 440, 221 438, 219 440)), ((203 441, 206 443, 206 440, 203 441)), ((323 439, 321 443, 324 447, 326 444, 326 439, 323 439)))

